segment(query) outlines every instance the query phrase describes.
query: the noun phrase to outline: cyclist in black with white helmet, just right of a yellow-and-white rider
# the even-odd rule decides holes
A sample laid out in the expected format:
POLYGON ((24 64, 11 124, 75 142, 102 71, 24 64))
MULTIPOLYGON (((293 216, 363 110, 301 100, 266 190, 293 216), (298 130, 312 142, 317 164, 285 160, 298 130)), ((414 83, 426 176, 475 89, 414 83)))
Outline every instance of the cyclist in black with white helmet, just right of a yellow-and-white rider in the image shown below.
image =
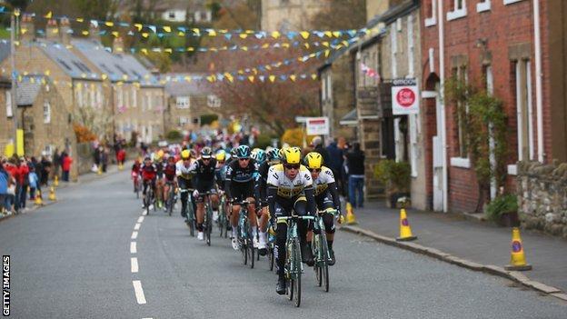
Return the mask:
POLYGON ((214 184, 214 169, 216 167, 216 159, 213 158, 213 152, 209 146, 205 146, 201 150, 201 158, 194 161, 189 168, 189 172, 195 175, 197 198, 197 239, 204 240, 203 222, 204 222, 204 196, 206 192, 210 192, 210 199, 213 204, 213 219, 218 219, 218 195, 214 184))

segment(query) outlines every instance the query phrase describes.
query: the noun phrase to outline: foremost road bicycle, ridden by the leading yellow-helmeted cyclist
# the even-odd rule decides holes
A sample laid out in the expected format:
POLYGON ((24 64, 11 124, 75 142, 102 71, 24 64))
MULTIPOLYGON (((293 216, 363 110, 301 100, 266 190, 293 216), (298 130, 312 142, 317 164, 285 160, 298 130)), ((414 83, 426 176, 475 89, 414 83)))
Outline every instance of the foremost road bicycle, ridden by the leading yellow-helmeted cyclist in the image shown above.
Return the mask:
POLYGON ((301 305, 301 277, 303 274, 303 264, 301 256, 301 245, 299 244, 299 235, 297 223, 299 221, 313 220, 313 216, 282 216, 277 217, 277 223, 287 224, 287 236, 285 240, 285 264, 284 275, 287 281, 287 292, 289 300, 295 301, 295 306, 301 305))

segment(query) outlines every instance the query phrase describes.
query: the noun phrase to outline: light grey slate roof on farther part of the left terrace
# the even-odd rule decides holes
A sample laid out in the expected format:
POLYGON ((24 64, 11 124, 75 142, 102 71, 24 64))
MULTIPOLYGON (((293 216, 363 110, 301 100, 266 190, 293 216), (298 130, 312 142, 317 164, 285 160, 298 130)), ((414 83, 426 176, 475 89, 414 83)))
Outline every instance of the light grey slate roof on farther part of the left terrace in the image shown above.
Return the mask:
POLYGON ((100 72, 108 75, 112 82, 140 82, 141 85, 160 86, 157 78, 144 67, 133 55, 112 54, 104 49, 104 46, 94 40, 71 41, 71 44, 85 55, 92 64, 99 68, 100 72), (124 77, 124 75, 127 75, 124 77))

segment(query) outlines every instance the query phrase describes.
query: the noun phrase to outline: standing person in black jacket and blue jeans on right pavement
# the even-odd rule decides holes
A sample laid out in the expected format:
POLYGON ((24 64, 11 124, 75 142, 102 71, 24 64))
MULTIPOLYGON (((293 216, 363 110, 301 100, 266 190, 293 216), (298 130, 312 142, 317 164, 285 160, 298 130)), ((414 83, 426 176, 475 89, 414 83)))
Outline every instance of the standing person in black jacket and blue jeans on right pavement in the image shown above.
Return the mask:
POLYGON ((364 152, 359 143, 353 144, 353 150, 346 155, 348 168, 349 202, 353 208, 364 207, 364 152), (358 197, 358 198, 357 198, 358 197))

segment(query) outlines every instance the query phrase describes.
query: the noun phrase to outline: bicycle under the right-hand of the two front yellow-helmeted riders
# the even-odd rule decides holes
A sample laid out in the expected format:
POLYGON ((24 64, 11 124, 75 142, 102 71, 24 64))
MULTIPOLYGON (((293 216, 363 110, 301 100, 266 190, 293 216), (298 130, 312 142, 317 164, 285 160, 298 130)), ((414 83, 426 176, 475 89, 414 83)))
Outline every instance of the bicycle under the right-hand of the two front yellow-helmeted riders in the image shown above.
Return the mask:
POLYGON ((325 292, 329 292, 329 246, 327 245, 327 234, 323 224, 323 215, 332 214, 333 218, 338 213, 336 209, 328 208, 319 211, 314 216, 313 225, 313 270, 315 271, 315 279, 320 287, 324 285, 325 292))

